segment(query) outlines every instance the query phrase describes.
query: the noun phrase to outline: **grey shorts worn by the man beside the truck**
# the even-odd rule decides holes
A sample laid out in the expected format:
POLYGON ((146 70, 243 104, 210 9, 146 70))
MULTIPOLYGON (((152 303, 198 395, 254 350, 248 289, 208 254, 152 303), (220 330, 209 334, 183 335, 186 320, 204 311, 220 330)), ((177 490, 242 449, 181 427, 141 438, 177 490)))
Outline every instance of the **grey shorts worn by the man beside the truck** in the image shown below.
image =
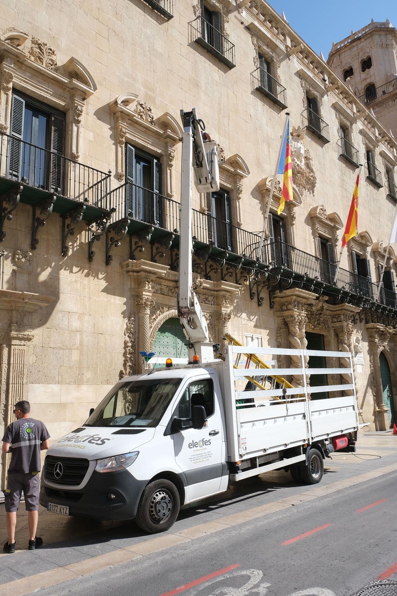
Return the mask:
POLYGON ((25 497, 26 511, 39 510, 40 474, 22 474, 11 472, 5 486, 5 511, 17 511, 22 492, 25 497))

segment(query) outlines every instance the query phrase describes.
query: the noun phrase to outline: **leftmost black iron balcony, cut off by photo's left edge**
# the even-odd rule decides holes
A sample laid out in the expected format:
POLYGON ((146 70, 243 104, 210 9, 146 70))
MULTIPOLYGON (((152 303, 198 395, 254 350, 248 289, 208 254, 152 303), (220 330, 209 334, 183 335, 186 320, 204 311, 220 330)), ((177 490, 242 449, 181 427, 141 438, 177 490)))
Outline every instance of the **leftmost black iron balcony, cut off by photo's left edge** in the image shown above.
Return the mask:
POLYGON ((0 133, 0 200, 18 183, 21 203, 35 206, 56 195, 53 210, 60 215, 84 205, 83 219, 93 221, 107 210, 102 197, 110 189, 110 172, 0 133))

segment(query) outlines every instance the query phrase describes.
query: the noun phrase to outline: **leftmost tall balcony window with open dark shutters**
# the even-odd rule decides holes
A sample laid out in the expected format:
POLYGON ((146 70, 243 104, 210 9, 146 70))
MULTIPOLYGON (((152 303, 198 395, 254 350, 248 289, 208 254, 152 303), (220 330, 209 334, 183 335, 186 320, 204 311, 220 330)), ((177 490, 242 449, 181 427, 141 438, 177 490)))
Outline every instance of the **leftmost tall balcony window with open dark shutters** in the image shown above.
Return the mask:
POLYGON ((9 176, 64 193, 65 114, 27 95, 13 94, 9 176), (18 140, 17 140, 18 139, 18 140))

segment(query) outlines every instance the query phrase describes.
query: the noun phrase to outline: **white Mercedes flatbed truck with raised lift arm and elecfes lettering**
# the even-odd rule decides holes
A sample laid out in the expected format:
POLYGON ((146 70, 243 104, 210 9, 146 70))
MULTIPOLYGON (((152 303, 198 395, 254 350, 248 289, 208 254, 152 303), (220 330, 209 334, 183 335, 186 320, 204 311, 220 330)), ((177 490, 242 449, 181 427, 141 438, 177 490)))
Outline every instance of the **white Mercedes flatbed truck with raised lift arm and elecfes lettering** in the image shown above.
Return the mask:
POLYGON ((49 511, 135 519, 152 533, 167 530, 180 507, 226 491, 229 482, 278 469, 290 470, 297 482, 320 482, 324 458, 354 451, 359 428, 348 353, 349 368, 335 367, 338 352, 321 352, 333 359, 331 367, 311 369, 306 362, 317 352, 235 344, 223 359, 214 358, 192 290, 191 216, 192 165, 200 192, 219 188, 217 145, 203 138, 195 110, 182 117, 178 304, 191 364, 168 361, 116 383, 82 427, 51 445, 40 491, 49 511), (272 356, 288 363, 293 356, 294 365, 271 368, 272 356), (351 383, 308 387, 308 375, 316 374, 349 374, 351 383), (299 386, 286 376, 300 378, 299 386))

